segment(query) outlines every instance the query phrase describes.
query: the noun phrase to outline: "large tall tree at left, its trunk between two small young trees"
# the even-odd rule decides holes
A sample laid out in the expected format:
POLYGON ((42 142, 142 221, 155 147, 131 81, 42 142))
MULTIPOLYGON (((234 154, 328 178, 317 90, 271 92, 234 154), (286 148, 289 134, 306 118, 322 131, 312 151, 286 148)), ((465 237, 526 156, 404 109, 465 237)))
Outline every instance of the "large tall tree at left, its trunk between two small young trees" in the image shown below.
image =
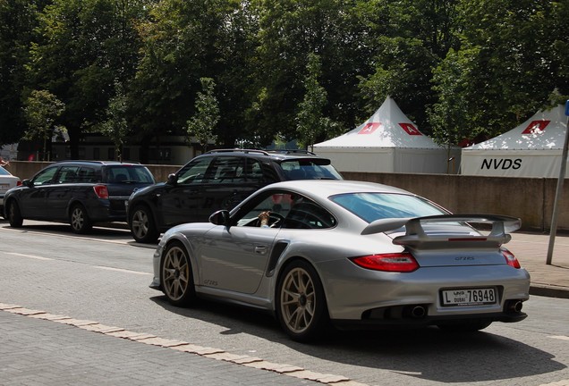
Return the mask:
POLYGON ((31 46, 30 82, 66 106, 72 158, 81 136, 101 120, 115 80, 131 79, 138 63, 133 20, 151 0, 53 0, 39 14, 39 37, 31 46))

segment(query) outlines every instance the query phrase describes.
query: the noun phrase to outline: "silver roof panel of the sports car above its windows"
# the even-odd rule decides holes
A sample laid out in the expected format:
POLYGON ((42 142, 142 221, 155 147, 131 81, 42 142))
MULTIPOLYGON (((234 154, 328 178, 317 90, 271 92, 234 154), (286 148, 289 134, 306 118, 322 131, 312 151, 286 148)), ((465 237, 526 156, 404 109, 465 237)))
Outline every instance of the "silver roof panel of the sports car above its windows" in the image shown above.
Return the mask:
POLYGON ((268 185, 264 189, 291 189, 309 197, 329 197, 353 192, 398 193, 415 196, 407 190, 393 186, 356 180, 287 180, 268 185))

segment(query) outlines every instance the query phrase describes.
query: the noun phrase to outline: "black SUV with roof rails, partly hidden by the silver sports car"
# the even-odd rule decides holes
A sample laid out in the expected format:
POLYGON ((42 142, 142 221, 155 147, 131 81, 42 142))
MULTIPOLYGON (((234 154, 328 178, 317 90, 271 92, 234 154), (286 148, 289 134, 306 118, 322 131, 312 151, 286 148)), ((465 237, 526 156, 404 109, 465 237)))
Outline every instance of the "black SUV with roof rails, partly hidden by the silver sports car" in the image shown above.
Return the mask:
POLYGON ((198 155, 165 183, 135 191, 128 202, 132 237, 156 242, 183 222, 207 222, 257 189, 281 180, 342 180, 327 158, 306 151, 219 149, 198 155))

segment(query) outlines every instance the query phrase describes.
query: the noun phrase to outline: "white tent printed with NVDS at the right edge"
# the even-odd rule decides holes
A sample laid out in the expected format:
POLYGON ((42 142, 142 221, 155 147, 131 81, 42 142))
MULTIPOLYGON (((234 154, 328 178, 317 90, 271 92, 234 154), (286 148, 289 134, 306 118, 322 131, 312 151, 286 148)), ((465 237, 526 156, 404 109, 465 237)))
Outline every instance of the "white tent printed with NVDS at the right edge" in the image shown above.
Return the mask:
MULTIPOLYGON (((567 130, 565 106, 539 111, 513 130, 463 148, 463 174, 559 178, 567 130)), ((565 177, 569 177, 569 168, 565 177)))

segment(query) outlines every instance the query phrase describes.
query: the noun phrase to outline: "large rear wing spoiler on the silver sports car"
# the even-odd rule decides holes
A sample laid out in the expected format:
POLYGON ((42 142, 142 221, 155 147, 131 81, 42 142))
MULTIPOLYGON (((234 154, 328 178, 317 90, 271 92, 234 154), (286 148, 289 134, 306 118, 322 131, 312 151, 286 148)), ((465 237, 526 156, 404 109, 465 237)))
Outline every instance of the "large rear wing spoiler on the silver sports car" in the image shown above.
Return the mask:
POLYGON ((517 217, 498 215, 498 214, 440 214, 425 217, 414 218, 394 218, 394 219, 380 219, 369 225, 361 231, 362 235, 369 235, 374 233, 381 233, 387 231, 395 231, 405 227, 405 234, 397 236, 393 240, 394 244, 417 248, 420 245, 429 243, 432 247, 433 244, 440 242, 454 241, 462 243, 461 247, 465 244, 476 243, 480 246, 480 242, 486 242, 492 246, 501 246, 512 239, 510 232, 517 231, 522 226, 522 221, 517 217), (436 234, 428 234, 423 228, 423 224, 436 222, 437 224, 444 222, 466 222, 466 223, 489 223, 492 229, 487 235, 465 235, 454 234, 453 232, 437 232, 436 234))

